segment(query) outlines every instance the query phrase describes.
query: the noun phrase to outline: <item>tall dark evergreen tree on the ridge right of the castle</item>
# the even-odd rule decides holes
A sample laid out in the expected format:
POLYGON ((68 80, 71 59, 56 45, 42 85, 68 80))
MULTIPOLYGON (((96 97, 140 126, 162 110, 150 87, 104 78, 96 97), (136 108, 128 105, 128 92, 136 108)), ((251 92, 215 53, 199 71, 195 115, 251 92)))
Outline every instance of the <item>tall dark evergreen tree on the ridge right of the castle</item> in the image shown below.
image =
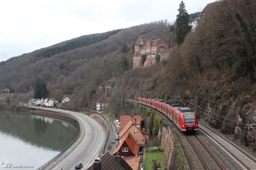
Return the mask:
POLYGON ((178 9, 179 14, 176 15, 176 42, 177 44, 182 44, 185 39, 186 34, 191 31, 191 26, 189 26, 189 15, 185 9, 185 4, 183 1, 180 3, 180 8, 178 9))

